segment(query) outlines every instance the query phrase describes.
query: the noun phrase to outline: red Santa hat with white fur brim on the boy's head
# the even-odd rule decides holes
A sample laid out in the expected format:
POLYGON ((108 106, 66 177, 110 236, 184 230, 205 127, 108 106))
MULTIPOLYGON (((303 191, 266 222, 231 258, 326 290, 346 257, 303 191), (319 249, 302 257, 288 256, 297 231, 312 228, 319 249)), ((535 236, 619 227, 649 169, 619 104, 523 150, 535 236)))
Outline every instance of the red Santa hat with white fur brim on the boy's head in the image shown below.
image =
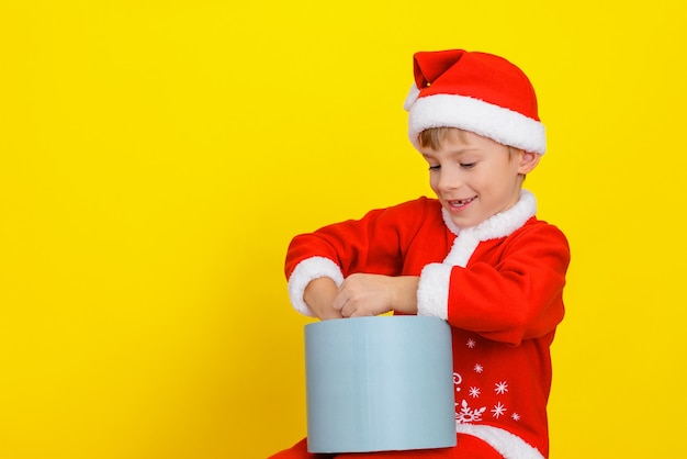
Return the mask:
POLYGON ((527 152, 545 152, 534 88, 514 64, 493 54, 449 49, 416 53, 414 71, 404 108, 416 148, 424 130, 459 127, 527 152))

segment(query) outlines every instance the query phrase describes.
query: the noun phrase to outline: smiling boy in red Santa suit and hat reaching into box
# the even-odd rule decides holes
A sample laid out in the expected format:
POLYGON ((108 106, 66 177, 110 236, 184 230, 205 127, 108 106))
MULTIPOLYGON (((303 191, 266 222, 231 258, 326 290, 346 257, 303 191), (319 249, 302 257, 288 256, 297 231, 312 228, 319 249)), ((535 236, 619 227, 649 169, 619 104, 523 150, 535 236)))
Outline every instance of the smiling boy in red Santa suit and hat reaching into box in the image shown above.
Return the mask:
MULTIPOLYGON (((447 320, 458 444, 337 457, 545 458, 570 249, 521 188, 545 150, 534 90, 485 53, 417 53, 414 70, 408 133, 437 199, 296 236, 285 271, 294 307, 322 320, 388 311, 447 320)), ((319 456, 303 440, 274 457, 319 456)))

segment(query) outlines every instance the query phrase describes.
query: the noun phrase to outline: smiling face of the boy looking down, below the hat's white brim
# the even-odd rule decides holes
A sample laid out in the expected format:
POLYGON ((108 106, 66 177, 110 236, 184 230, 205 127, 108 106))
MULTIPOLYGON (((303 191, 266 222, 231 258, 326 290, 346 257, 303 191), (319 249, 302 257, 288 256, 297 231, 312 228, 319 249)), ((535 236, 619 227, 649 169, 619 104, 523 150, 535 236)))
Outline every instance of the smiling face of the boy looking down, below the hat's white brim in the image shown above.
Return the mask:
POLYGON ((420 153, 429 164, 431 189, 453 223, 463 228, 513 206, 525 175, 539 163, 538 154, 458 130, 437 150, 423 147, 420 153))

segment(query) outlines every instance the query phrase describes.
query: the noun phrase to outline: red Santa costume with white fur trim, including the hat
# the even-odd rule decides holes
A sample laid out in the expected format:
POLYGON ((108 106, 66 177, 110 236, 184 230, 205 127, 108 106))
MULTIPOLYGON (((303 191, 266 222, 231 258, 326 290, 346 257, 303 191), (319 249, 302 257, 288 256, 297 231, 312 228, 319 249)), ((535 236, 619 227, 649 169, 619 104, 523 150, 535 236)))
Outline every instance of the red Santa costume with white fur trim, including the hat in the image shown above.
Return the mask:
MULTIPOLYGON (((514 67, 482 53, 417 54, 416 87, 408 99, 412 142, 417 146, 424 128, 449 125, 543 154, 533 90, 514 67), (463 80, 471 81, 469 89, 463 80), (518 105, 522 97, 499 96, 514 88, 525 88, 527 107, 518 105), (470 107, 461 105, 465 101, 470 107)), ((538 220, 536 210, 534 197, 522 190, 510 209, 460 228, 438 200, 419 198, 292 240, 285 272, 291 302, 301 313, 312 315, 303 292, 316 278, 338 284, 356 272, 419 276, 418 315, 451 325, 458 445, 370 457, 549 456, 550 345, 564 315, 570 249, 563 233, 538 220)), ((274 457, 318 457, 305 445, 274 457)))

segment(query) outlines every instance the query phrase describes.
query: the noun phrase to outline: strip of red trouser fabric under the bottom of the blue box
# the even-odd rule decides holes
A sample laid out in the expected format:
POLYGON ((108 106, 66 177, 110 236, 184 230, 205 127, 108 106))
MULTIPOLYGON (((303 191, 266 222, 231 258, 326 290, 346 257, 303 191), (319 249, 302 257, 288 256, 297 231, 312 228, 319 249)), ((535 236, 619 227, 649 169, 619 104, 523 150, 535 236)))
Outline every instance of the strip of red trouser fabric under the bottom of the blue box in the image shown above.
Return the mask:
POLYGON ((494 448, 472 435, 458 435, 453 448, 419 449, 412 451, 349 452, 344 455, 315 455, 307 452, 307 438, 302 439, 292 448, 280 451, 270 459, 503 459, 494 448))

